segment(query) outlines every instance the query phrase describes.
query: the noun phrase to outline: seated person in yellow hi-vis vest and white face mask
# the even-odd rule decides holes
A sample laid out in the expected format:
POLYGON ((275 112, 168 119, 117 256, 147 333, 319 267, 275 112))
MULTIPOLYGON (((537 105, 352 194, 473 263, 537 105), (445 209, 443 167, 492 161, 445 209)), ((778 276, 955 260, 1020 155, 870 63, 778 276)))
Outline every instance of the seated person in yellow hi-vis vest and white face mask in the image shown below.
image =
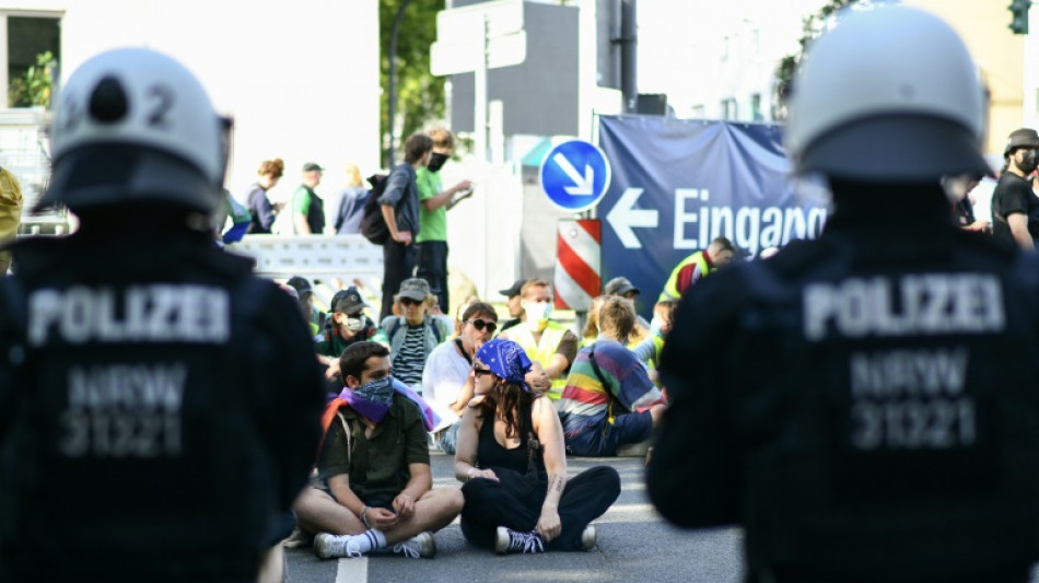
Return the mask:
POLYGON ((552 380, 548 396, 553 400, 567 386, 570 363, 577 353, 577 336, 562 324, 551 319, 552 287, 542 279, 529 279, 520 290, 522 325, 502 333, 501 338, 515 340, 527 357, 545 370, 552 380))

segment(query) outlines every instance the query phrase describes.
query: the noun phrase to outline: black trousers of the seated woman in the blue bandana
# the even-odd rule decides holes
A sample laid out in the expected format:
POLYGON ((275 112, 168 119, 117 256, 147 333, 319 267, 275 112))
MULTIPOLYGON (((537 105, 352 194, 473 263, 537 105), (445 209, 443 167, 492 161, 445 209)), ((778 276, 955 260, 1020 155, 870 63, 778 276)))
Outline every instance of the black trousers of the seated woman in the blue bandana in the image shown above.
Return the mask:
MULTIPOLYGON (((499 526, 529 533, 537 526, 545 502, 545 483, 529 494, 517 495, 503 482, 477 478, 462 486, 466 504, 462 510, 462 534, 474 545, 494 547, 499 526)), ((609 510, 620 495, 620 476, 609 466, 586 469, 567 482, 559 499, 562 532, 548 548, 576 550, 581 533, 609 510)))

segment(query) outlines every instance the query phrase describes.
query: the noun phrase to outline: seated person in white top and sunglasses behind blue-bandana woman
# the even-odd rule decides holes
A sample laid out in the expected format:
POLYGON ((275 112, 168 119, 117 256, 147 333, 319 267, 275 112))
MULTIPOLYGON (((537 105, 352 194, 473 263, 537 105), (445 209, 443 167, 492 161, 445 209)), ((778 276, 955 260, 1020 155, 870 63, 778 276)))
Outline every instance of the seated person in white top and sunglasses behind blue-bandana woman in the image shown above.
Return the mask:
POLYGON ((433 349, 422 372, 422 395, 441 417, 434 439, 448 455, 455 454, 458 420, 472 398, 472 357, 498 329, 498 313, 492 305, 477 302, 462 314, 462 322, 458 338, 433 349))

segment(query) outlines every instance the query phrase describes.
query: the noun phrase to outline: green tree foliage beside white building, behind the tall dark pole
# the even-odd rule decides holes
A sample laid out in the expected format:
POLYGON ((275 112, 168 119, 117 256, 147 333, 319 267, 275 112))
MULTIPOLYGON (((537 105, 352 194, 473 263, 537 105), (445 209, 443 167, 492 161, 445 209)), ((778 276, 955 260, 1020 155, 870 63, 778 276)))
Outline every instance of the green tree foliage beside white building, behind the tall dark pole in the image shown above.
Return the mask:
MULTIPOLYGON (((402 0, 380 0, 380 84, 383 100, 380 109, 380 133, 383 137, 383 163, 389 147, 389 39, 394 18, 402 0)), ((411 133, 444 118, 444 78, 430 74, 430 46, 436 39, 436 12, 444 10, 444 0, 411 0, 405 9, 397 35, 397 152, 411 133)))

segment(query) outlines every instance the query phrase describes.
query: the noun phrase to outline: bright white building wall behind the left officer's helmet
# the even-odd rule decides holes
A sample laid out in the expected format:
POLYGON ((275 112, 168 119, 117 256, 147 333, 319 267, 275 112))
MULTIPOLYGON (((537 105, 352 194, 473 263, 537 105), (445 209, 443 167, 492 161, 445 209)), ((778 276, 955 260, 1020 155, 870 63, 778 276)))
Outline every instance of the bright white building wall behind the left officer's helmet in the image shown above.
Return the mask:
POLYGON ((377 170, 377 0, 0 0, 11 9, 65 12, 62 80, 120 46, 184 62, 234 117, 227 187, 240 197, 271 158, 285 162, 275 199, 288 198, 305 162, 327 168, 326 200, 347 162, 377 170))

